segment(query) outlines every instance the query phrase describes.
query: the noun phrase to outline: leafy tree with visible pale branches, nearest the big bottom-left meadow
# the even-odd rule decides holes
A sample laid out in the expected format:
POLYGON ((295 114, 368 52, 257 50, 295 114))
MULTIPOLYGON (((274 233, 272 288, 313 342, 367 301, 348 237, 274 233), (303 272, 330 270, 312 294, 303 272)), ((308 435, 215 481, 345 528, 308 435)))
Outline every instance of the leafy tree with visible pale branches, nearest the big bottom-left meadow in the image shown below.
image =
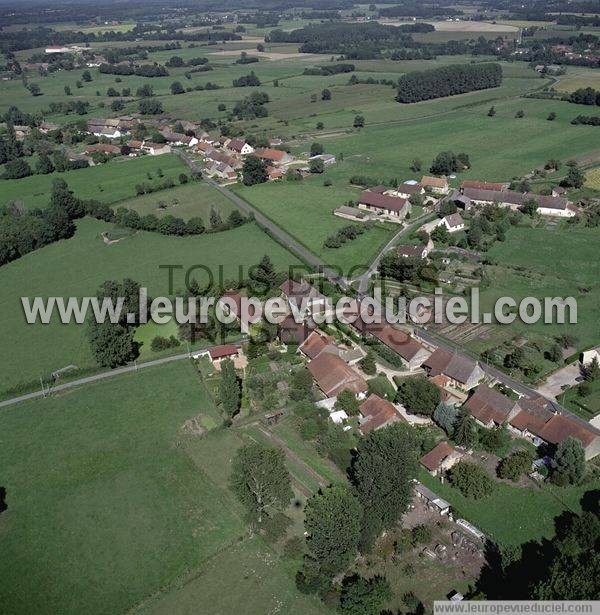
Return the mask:
POLYGON ((233 459, 231 488, 253 523, 284 510, 294 493, 283 450, 258 442, 242 446, 233 459))

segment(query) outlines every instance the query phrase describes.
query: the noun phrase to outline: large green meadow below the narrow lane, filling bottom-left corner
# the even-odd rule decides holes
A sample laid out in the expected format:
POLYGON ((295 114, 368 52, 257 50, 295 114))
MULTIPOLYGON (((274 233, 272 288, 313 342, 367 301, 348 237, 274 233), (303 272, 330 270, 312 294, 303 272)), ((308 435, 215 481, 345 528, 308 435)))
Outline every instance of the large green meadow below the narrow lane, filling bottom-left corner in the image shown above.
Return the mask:
POLYGON ((221 420, 185 362, 2 412, 5 612, 185 613, 198 591, 214 613, 324 611, 295 591, 277 553, 245 536, 228 489, 243 440, 185 434, 193 417, 221 420))

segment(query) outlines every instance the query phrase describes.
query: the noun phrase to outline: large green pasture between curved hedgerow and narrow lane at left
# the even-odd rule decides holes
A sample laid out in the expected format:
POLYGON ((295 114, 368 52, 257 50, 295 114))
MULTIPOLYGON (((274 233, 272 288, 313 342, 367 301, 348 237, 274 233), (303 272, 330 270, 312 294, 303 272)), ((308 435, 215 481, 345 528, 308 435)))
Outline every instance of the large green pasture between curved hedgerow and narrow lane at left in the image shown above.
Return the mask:
MULTIPOLYGON (((235 279, 238 267, 248 267, 269 254, 277 269, 297 263, 256 225, 194 237, 167 237, 157 233, 136 233, 107 245, 100 234, 114 226, 92 219, 78 222, 76 235, 46 246, 0 268, 2 324, 0 338, 4 352, 0 391, 31 383, 50 371, 73 364, 94 366, 85 325, 61 324, 55 316, 49 324, 29 325, 20 297, 81 297, 94 295, 105 280, 132 278, 148 287, 150 296, 169 293, 168 271, 161 265, 181 266, 174 273, 174 291, 185 288, 188 267, 206 266, 219 280, 235 279)), ((244 270, 244 274, 247 271, 244 270)), ((201 283, 207 274, 197 269, 190 274, 201 283)))

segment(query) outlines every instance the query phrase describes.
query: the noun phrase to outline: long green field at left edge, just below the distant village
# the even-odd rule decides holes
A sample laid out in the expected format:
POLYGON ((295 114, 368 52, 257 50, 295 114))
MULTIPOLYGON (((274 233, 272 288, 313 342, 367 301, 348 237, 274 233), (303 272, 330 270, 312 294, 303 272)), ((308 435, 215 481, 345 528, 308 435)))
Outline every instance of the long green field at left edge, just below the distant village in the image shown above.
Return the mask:
MULTIPOLYGON (((167 177, 177 182, 180 173, 188 174, 189 170, 175 154, 139 158, 117 157, 106 164, 75 171, 0 180, 0 204, 18 201, 28 209, 45 207, 50 199, 54 179, 66 181, 69 188, 81 199, 95 199, 111 204, 134 197, 136 184, 158 184, 167 177), (159 177, 159 169, 163 177, 159 177)), ((168 191, 163 192, 167 193, 168 191)), ((158 196, 161 193, 155 194, 158 196)))

